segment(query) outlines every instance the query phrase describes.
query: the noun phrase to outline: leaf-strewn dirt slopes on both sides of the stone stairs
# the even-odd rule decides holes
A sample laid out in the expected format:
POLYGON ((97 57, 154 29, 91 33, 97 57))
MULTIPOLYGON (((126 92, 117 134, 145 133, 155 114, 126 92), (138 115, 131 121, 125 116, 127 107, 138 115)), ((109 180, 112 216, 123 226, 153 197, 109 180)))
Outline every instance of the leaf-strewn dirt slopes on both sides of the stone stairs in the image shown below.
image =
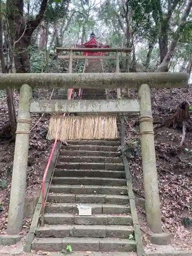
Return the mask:
MULTIPOLYGON (((51 91, 39 91, 39 97, 49 98, 51 91)), ((136 91, 131 90, 132 98, 136 97, 136 91)), ((18 108, 18 93, 14 93, 16 109, 18 108)), ((172 109, 183 99, 192 102, 192 89, 152 90, 153 117, 154 121, 163 121, 172 115, 172 109), (166 107, 166 111, 160 110, 158 106, 166 107)), ((0 93, 0 131, 8 122, 8 110, 5 104, 5 92, 0 93)), ((39 120, 40 115, 32 115, 32 126, 39 120)), ((26 194, 38 193, 42 175, 50 154, 51 142, 46 140, 49 117, 43 117, 31 132, 28 178, 26 194), (34 189, 35 188, 35 189, 34 189)), ((140 141, 139 126, 136 118, 127 119, 126 133, 130 141, 140 141)), ((154 124, 155 125, 155 124, 154 124)), ((191 228, 185 228, 182 218, 191 218, 192 207, 192 132, 187 131, 183 146, 179 148, 182 129, 173 127, 161 127, 155 133, 155 146, 157 157, 157 170, 159 179, 159 194, 161 200, 161 214, 163 231, 173 236, 172 246, 177 249, 192 249, 191 228)), ((13 165, 14 142, 6 137, 0 138, 0 232, 5 233, 7 227, 8 205, 11 186, 11 172, 13 165), (2 188, 1 188, 2 187, 2 188)), ((137 150, 130 156, 130 168, 133 178, 133 187, 136 195, 144 198, 143 177, 140 154, 140 143, 137 150)), ((141 229, 144 232, 143 242, 146 249, 157 250, 147 240, 147 226, 145 211, 138 208, 141 229)), ((31 219, 24 221, 23 234, 29 230, 31 219)), ((3 254, 1 254, 3 255, 3 254)), ((27 255, 26 255, 27 256, 27 255)))

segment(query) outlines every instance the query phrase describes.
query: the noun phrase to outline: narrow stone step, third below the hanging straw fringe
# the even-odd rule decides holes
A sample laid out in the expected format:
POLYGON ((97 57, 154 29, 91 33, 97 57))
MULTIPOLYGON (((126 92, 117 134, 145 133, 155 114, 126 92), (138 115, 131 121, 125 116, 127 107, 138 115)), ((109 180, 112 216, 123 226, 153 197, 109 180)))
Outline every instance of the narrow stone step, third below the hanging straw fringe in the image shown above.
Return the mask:
MULTIPOLYGON (((119 145, 120 146, 120 145, 119 145)), ((87 156, 87 157, 118 157, 121 156, 120 152, 105 152, 105 151, 60 151, 60 156, 87 156)))

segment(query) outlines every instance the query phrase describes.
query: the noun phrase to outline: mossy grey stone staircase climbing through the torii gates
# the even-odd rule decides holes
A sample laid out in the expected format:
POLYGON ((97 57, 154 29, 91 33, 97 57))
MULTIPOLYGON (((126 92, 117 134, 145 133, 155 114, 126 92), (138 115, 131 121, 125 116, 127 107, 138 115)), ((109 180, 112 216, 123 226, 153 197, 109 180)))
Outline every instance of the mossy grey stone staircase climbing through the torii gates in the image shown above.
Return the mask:
MULTIPOLYGON (((102 71, 98 62, 93 70, 91 60, 86 71, 102 71)), ((83 99, 106 98, 104 90, 83 92, 83 99)), ((119 121, 118 128, 120 132, 119 121)), ((46 225, 36 229, 32 249, 61 251, 71 245, 73 251, 137 255, 120 144, 118 138, 61 146, 45 207, 46 225), (91 206, 92 216, 79 216, 78 204, 91 206)))

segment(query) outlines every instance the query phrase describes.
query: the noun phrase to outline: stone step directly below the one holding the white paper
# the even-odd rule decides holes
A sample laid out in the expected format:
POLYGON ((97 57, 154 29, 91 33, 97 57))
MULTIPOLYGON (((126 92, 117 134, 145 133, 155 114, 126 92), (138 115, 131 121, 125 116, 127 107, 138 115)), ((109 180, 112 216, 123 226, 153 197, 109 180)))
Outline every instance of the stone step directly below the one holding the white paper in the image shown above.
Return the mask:
POLYGON ((45 223, 50 225, 132 225, 131 215, 45 214, 45 223))

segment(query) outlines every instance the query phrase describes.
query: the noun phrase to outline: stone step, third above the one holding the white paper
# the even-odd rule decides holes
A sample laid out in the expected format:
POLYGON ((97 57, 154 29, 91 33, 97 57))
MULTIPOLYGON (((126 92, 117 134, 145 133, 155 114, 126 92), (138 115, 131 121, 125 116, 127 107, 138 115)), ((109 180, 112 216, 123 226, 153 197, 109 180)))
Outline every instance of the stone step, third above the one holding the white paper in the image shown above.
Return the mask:
POLYGON ((53 177, 52 184, 126 186, 126 180, 100 177, 53 177))

